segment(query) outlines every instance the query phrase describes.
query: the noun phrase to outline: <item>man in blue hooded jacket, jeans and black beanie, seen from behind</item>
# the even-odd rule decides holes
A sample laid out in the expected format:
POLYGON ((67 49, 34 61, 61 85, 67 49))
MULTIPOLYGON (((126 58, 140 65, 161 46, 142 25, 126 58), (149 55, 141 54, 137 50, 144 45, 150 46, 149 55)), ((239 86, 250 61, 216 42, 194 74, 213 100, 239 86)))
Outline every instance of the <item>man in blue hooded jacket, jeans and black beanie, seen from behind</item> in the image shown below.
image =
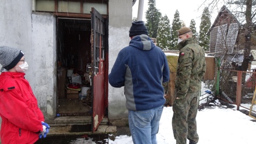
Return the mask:
POLYGON ((143 21, 133 22, 129 32, 130 44, 118 53, 109 84, 124 86, 133 143, 157 143, 165 103, 162 84, 169 82, 169 66, 164 52, 148 36, 143 21))

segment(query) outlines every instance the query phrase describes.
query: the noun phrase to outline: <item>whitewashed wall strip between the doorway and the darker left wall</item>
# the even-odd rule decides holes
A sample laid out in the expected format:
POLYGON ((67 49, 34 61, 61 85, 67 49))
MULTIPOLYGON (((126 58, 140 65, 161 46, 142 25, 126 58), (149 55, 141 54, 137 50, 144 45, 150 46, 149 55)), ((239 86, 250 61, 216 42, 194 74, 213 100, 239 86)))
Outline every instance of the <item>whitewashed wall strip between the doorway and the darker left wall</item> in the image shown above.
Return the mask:
POLYGON ((31 17, 33 36, 31 64, 34 81, 32 88, 45 118, 54 119, 57 113, 56 22, 50 13, 34 12, 31 17))

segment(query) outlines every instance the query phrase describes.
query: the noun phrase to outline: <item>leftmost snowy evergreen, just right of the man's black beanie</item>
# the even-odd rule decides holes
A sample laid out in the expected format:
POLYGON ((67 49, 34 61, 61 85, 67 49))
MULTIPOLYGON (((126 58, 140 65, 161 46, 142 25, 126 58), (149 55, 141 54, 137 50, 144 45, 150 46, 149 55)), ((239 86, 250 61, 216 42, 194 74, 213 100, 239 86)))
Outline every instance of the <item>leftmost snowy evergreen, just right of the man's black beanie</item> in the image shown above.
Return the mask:
POLYGON ((148 28, 149 37, 157 37, 157 28, 161 17, 161 12, 156 9, 156 0, 149 0, 148 10, 146 11, 146 27, 148 28))

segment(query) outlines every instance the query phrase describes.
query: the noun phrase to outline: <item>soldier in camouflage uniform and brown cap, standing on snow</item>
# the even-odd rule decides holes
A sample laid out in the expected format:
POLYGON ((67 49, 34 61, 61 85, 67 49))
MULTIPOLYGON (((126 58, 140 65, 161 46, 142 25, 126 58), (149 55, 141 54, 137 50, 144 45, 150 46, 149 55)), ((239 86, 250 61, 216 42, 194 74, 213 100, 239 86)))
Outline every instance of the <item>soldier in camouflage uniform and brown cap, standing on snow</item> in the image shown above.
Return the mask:
POLYGON ((172 129, 177 144, 198 142, 196 115, 201 80, 205 74, 204 49, 197 44, 190 28, 177 31, 180 50, 177 76, 175 79, 175 100, 173 103, 172 129))

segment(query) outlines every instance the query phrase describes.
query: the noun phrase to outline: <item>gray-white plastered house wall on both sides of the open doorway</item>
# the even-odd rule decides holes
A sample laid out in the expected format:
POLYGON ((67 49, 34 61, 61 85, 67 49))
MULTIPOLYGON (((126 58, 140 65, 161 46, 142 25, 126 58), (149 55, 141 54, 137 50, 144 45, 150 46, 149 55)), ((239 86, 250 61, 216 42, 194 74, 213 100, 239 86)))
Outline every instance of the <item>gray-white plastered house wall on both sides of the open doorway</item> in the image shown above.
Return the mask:
MULTIPOLYGON (((29 65, 25 77, 46 120, 52 120, 57 111, 56 21, 51 14, 32 12, 32 7, 31 0, 0 1, 0 45, 25 52, 29 65)), ((129 45, 131 23, 132 1, 109 0, 109 73, 118 52, 129 45)), ((110 121, 127 119, 124 87, 108 87, 110 121)))

